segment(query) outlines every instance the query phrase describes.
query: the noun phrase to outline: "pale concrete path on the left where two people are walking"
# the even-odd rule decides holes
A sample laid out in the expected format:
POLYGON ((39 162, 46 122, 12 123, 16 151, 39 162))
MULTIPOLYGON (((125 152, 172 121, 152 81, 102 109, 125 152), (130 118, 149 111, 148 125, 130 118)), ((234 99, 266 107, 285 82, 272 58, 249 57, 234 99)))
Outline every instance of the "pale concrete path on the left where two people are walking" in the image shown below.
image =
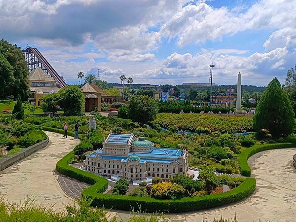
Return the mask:
POLYGON ((0 196, 10 202, 19 202, 32 196, 37 203, 54 204, 54 209, 64 210, 63 204, 73 204, 61 189, 55 173, 56 163, 79 143, 73 137, 64 139, 61 134, 45 132, 49 145, 21 162, 0 172, 0 196))

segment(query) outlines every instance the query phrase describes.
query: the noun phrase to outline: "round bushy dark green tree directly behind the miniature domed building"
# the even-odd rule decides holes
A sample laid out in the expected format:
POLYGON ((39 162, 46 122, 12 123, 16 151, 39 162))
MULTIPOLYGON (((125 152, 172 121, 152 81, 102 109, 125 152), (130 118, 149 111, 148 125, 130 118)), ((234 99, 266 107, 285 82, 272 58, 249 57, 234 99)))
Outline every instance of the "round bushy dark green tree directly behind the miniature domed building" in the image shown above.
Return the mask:
POLYGON ((155 118, 157 112, 158 106, 154 99, 138 95, 131 97, 128 114, 133 121, 140 124, 148 123, 155 118))

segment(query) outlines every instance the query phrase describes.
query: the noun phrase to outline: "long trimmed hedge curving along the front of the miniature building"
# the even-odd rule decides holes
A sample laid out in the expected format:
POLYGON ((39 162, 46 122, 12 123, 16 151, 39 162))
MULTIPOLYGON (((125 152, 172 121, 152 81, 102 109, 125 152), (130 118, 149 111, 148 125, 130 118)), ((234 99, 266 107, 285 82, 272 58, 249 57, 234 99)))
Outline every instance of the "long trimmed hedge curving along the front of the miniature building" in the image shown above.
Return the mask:
POLYGON ((151 197, 133 197, 125 195, 111 195, 95 193, 88 188, 82 195, 93 198, 92 205, 96 207, 112 208, 129 211, 134 209, 143 212, 186 212, 218 207, 240 201, 251 195, 256 188, 255 178, 246 178, 238 187, 231 191, 200 197, 184 197, 176 200, 159 200, 151 197))

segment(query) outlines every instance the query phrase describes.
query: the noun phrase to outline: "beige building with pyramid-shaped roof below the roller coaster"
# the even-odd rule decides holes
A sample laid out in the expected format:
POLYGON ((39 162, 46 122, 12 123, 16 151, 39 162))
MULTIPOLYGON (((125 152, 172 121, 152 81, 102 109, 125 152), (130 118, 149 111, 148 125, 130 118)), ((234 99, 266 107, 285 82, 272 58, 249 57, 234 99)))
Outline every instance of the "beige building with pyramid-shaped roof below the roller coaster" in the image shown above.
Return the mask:
POLYGON ((29 74, 28 79, 31 90, 29 102, 32 105, 39 106, 40 97, 43 95, 56 93, 61 89, 56 87, 56 81, 39 67, 29 74))

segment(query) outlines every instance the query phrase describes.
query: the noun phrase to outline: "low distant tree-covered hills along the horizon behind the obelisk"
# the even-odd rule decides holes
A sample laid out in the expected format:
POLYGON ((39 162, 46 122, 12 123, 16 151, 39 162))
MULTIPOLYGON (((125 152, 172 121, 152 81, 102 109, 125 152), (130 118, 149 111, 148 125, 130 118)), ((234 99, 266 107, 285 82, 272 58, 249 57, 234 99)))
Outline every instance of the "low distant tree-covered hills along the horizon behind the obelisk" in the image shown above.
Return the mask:
MULTIPOLYGON (((129 84, 124 84, 128 85, 129 84)), ((147 84, 131 84, 132 89, 141 89, 143 85, 147 84)), ((122 86, 120 83, 109 83, 109 87, 113 86, 122 86)), ((183 85, 177 85, 179 89, 183 89, 184 91, 189 91, 190 87, 192 86, 183 86, 183 85)), ((218 85, 218 86, 212 86, 213 91, 217 91, 217 89, 226 89, 226 88, 234 88, 236 92, 236 85, 218 85)), ((196 88, 198 90, 204 91, 204 90, 210 90, 210 86, 194 86, 193 88, 196 88)), ((248 91, 248 92, 263 92, 266 90, 266 86, 256 86, 256 85, 242 85, 242 92, 248 91)))

